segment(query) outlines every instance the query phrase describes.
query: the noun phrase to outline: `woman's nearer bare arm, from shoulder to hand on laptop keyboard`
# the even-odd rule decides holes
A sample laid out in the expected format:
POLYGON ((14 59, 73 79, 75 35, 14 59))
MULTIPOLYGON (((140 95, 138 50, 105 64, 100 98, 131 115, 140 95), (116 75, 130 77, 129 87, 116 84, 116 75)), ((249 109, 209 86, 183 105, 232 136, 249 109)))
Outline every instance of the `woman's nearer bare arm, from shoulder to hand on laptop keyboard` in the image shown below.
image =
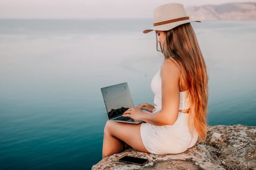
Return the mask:
POLYGON ((172 60, 161 67, 162 109, 156 113, 142 112, 138 107, 128 109, 124 116, 143 120, 154 125, 172 125, 177 120, 179 108, 180 70, 172 60))

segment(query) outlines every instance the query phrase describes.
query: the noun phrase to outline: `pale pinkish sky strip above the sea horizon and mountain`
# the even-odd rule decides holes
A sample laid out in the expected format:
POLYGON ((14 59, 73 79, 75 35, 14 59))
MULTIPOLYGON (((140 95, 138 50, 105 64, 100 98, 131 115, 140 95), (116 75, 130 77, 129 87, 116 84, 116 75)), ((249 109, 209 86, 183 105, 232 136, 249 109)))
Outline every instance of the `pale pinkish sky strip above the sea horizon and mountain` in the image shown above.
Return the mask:
POLYGON ((151 18, 165 3, 185 7, 256 0, 0 0, 0 18, 151 18))

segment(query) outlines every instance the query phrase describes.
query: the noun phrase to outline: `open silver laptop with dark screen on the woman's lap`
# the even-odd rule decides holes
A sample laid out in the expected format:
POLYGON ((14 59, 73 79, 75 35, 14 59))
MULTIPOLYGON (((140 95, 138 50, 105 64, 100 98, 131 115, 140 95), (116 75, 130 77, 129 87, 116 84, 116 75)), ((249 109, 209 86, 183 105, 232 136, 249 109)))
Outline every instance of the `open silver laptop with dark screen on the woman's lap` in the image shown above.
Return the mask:
POLYGON ((125 123, 140 123, 141 120, 123 117, 123 113, 134 107, 127 82, 100 88, 109 120, 125 123))

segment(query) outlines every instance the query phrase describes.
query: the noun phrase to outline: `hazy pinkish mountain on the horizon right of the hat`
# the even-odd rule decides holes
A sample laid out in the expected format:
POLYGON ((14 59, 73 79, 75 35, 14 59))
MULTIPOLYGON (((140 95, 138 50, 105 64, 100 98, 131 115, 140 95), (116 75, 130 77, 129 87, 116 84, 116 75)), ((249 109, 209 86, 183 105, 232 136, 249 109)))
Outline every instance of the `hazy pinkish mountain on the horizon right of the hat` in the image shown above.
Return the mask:
POLYGON ((256 20, 256 2, 192 6, 186 11, 198 20, 256 20))

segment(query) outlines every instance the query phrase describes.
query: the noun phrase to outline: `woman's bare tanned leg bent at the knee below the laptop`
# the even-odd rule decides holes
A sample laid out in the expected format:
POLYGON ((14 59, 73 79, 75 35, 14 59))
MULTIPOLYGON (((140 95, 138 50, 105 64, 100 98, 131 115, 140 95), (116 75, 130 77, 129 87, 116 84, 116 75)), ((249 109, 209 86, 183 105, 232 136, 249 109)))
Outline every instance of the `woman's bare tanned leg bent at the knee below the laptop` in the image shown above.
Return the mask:
POLYGON ((104 129, 102 158, 123 151, 123 142, 137 151, 148 153, 140 136, 140 124, 108 120, 104 129))

